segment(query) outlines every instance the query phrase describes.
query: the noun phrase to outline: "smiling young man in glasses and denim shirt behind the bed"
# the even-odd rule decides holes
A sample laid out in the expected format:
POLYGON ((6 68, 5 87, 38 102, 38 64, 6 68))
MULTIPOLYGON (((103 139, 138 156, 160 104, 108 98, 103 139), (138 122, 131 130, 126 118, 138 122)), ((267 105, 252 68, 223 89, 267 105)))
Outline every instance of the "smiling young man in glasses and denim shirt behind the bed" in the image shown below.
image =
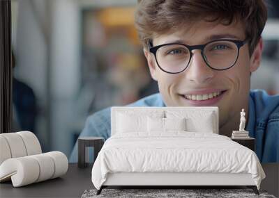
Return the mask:
MULTIPOLYGON (((139 1, 135 24, 160 93, 130 105, 218 106, 219 133, 227 136, 244 108, 259 160, 279 162, 279 96, 250 90, 266 15, 262 0, 139 1)), ((89 135, 110 137, 110 108, 89 116, 81 136, 89 135)))

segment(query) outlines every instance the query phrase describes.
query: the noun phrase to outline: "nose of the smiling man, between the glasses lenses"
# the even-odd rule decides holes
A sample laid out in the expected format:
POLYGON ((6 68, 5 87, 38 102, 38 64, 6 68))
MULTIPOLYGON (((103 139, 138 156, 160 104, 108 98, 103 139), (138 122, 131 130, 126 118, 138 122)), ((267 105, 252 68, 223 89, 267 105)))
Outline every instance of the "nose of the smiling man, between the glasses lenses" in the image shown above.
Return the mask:
POLYGON ((213 78, 214 71, 206 65, 200 50, 195 49, 192 52, 192 59, 186 69, 187 79, 198 84, 207 83, 213 78))

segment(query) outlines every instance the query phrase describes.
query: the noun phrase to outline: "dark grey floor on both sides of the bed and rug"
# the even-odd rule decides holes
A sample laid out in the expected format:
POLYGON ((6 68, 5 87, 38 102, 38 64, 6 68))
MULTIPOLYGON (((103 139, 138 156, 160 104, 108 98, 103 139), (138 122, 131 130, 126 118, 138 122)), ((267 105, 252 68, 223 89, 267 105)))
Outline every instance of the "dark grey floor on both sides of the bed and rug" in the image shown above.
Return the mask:
MULTIPOLYGON (((91 182, 91 166, 78 168, 77 164, 69 164, 67 174, 40 183, 33 183, 20 188, 13 188, 12 183, 0 183, 0 197, 81 197, 84 190, 93 189, 91 182)), ((261 189, 269 194, 279 196, 279 163, 263 164, 266 179, 261 189)))

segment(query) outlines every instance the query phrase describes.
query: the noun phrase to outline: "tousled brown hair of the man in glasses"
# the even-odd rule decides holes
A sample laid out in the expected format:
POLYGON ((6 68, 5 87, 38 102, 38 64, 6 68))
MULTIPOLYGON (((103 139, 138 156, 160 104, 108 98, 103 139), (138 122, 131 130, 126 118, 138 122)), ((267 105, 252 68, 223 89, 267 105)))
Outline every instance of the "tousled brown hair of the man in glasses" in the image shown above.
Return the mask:
POLYGON ((229 25, 243 20, 252 54, 267 18, 264 0, 138 0, 135 26, 147 49, 154 34, 174 32, 198 20, 229 25), (210 19, 208 19, 210 17, 210 19))

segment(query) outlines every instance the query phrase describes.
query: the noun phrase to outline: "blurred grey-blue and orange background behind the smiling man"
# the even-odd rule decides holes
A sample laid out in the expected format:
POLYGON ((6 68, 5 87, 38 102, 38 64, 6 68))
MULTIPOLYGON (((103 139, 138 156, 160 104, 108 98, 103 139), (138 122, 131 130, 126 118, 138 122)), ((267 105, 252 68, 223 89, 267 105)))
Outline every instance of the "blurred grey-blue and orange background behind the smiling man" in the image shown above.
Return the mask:
MULTIPOLYGON (((13 131, 73 149, 88 115, 158 92, 134 27, 137 0, 12 0, 13 131)), ((279 93, 279 1, 269 1, 252 89, 279 93)))

